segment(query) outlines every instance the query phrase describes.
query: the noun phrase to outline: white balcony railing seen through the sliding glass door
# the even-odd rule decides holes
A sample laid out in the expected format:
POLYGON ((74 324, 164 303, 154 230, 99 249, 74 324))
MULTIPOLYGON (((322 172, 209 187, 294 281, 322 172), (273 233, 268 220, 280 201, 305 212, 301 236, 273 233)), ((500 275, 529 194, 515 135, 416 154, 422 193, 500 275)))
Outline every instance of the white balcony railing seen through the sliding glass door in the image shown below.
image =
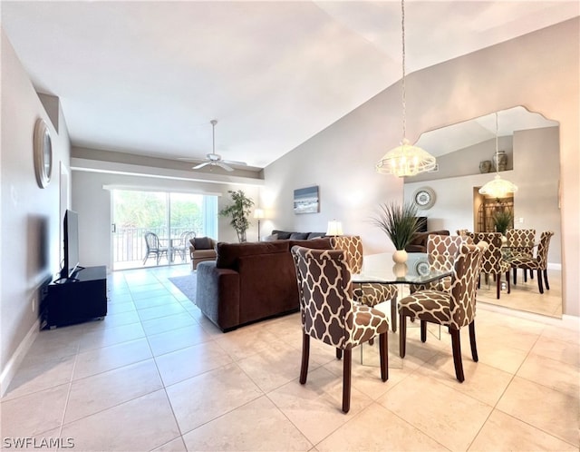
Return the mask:
MULTIPOLYGON (((147 254, 147 245, 145 244, 145 234, 147 232, 153 232, 157 234, 160 238, 162 246, 178 246, 179 237, 183 232, 191 231, 190 228, 171 228, 170 236, 167 235, 167 228, 118 228, 117 231, 112 234, 112 255, 113 255, 113 268, 127 267, 129 263, 135 263, 134 266, 138 266, 139 262, 142 265, 145 255, 147 254), (171 239, 169 241, 169 238, 171 239)), ((196 235, 200 235, 196 233, 196 235)), ((187 254, 189 255, 189 253, 187 254)), ((171 256, 171 253, 169 253, 171 256)), ((165 260, 165 258, 163 258, 165 260)), ((160 261, 160 264, 166 264, 167 261, 160 261)), ((185 260, 184 260, 185 261, 185 260)), ((150 259, 147 261, 148 264, 157 264, 155 259, 150 259)))

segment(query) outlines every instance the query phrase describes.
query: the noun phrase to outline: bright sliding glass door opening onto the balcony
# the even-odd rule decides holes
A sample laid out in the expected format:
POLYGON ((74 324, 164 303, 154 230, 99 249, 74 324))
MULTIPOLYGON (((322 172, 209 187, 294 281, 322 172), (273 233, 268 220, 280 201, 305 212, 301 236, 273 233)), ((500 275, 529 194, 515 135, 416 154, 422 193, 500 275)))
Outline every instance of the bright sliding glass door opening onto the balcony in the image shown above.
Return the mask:
POLYGON ((189 262, 189 239, 218 236, 218 197, 112 191, 112 269, 189 262))

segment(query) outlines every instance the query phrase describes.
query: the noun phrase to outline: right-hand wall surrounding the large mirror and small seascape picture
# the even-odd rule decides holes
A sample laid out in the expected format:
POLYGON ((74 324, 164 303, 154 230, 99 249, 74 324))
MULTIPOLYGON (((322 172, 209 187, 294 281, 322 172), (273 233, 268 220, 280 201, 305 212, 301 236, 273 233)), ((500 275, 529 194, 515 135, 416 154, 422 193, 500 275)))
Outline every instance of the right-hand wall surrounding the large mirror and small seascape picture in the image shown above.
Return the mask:
MULTIPOLYGON (((580 315, 580 173, 578 18, 438 64, 407 78, 407 138, 517 105, 560 123, 562 251, 565 314, 580 315)), ((272 222, 298 231, 336 218, 362 235, 365 252, 392 250, 369 225, 380 202, 401 201, 402 182, 374 172, 401 141, 400 86, 392 85, 265 170, 272 222), (322 211, 294 215, 295 188, 321 187, 322 211)))

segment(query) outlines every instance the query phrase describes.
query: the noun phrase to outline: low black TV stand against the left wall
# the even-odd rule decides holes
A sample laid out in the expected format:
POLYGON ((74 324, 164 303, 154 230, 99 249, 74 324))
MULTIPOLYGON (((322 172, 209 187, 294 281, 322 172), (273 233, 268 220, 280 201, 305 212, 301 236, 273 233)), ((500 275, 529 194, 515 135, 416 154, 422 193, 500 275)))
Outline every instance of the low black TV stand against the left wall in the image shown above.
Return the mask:
POLYGON ((107 268, 80 267, 73 278, 53 280, 43 300, 43 328, 56 328, 107 315, 107 268))

